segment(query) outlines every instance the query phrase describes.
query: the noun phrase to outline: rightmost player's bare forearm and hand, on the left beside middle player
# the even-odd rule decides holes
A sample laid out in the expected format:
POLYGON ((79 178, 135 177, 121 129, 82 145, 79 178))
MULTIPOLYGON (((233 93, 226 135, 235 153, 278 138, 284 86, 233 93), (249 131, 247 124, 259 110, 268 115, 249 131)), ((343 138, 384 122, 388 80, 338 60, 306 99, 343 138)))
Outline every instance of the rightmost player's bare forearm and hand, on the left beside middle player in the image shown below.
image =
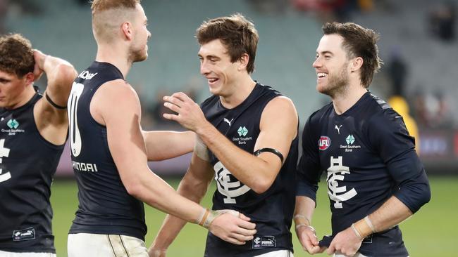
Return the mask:
POLYGON ((309 197, 297 196, 294 213, 295 230, 297 239, 302 244, 304 251, 310 254, 321 253, 325 248, 318 246, 318 238, 315 229, 311 226, 311 218, 314 215, 315 202, 309 197))

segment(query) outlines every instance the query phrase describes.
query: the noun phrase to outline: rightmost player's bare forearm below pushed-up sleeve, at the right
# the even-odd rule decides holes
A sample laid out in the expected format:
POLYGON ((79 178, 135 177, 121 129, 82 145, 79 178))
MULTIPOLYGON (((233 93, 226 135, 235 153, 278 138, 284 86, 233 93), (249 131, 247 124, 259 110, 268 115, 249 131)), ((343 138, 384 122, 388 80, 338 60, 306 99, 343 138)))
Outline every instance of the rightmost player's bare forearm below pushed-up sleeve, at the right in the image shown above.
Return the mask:
POLYGON ((380 208, 369 216, 358 220, 354 227, 361 237, 367 237, 374 232, 388 230, 409 218, 413 213, 396 197, 390 197, 380 208))

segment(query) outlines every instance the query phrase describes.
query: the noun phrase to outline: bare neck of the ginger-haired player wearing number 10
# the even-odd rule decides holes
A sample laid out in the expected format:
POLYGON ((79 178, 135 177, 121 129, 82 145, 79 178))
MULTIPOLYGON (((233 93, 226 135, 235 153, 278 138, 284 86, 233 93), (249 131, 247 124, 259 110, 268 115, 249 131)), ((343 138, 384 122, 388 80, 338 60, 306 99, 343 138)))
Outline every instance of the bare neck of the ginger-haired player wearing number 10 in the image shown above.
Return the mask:
POLYGON ((99 45, 97 49, 97 62, 109 62, 120 70, 125 78, 132 67, 132 62, 128 60, 127 53, 123 49, 118 49, 116 46, 99 45))

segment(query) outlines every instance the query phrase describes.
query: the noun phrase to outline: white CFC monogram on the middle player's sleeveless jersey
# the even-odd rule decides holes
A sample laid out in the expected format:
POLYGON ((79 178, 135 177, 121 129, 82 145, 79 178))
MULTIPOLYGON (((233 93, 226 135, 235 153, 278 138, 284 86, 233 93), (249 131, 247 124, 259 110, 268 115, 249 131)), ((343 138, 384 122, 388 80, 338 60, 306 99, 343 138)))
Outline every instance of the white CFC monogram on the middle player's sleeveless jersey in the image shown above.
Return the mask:
POLYGON ((221 162, 217 162, 215 166, 213 166, 213 169, 215 170, 215 180, 218 192, 225 196, 225 204, 237 204, 234 198, 240 197, 240 195, 250 190, 247 185, 240 186, 241 183, 239 180, 230 181, 229 175, 232 175, 232 173, 230 173, 228 169, 225 169, 225 166, 221 162))

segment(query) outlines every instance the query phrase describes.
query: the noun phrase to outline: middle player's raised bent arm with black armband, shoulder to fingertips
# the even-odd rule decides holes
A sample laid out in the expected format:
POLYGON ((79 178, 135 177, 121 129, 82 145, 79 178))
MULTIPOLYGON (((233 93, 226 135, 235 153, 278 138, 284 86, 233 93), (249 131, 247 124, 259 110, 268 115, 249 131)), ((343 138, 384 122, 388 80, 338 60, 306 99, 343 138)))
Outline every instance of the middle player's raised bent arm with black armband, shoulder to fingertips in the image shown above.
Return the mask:
MULTIPOLYGON (((184 93, 174 93, 164 97, 164 100, 166 107, 178 113, 164 114, 164 117, 196 132, 240 182, 256 193, 265 192, 271 187, 282 166, 277 154, 261 152, 256 157, 241 150, 206 121, 199 105, 184 93)), ((297 136, 297 124, 297 112, 292 101, 283 96, 274 98, 266 105, 261 116, 260 133, 254 151, 271 148, 286 157, 292 140, 297 136)))

